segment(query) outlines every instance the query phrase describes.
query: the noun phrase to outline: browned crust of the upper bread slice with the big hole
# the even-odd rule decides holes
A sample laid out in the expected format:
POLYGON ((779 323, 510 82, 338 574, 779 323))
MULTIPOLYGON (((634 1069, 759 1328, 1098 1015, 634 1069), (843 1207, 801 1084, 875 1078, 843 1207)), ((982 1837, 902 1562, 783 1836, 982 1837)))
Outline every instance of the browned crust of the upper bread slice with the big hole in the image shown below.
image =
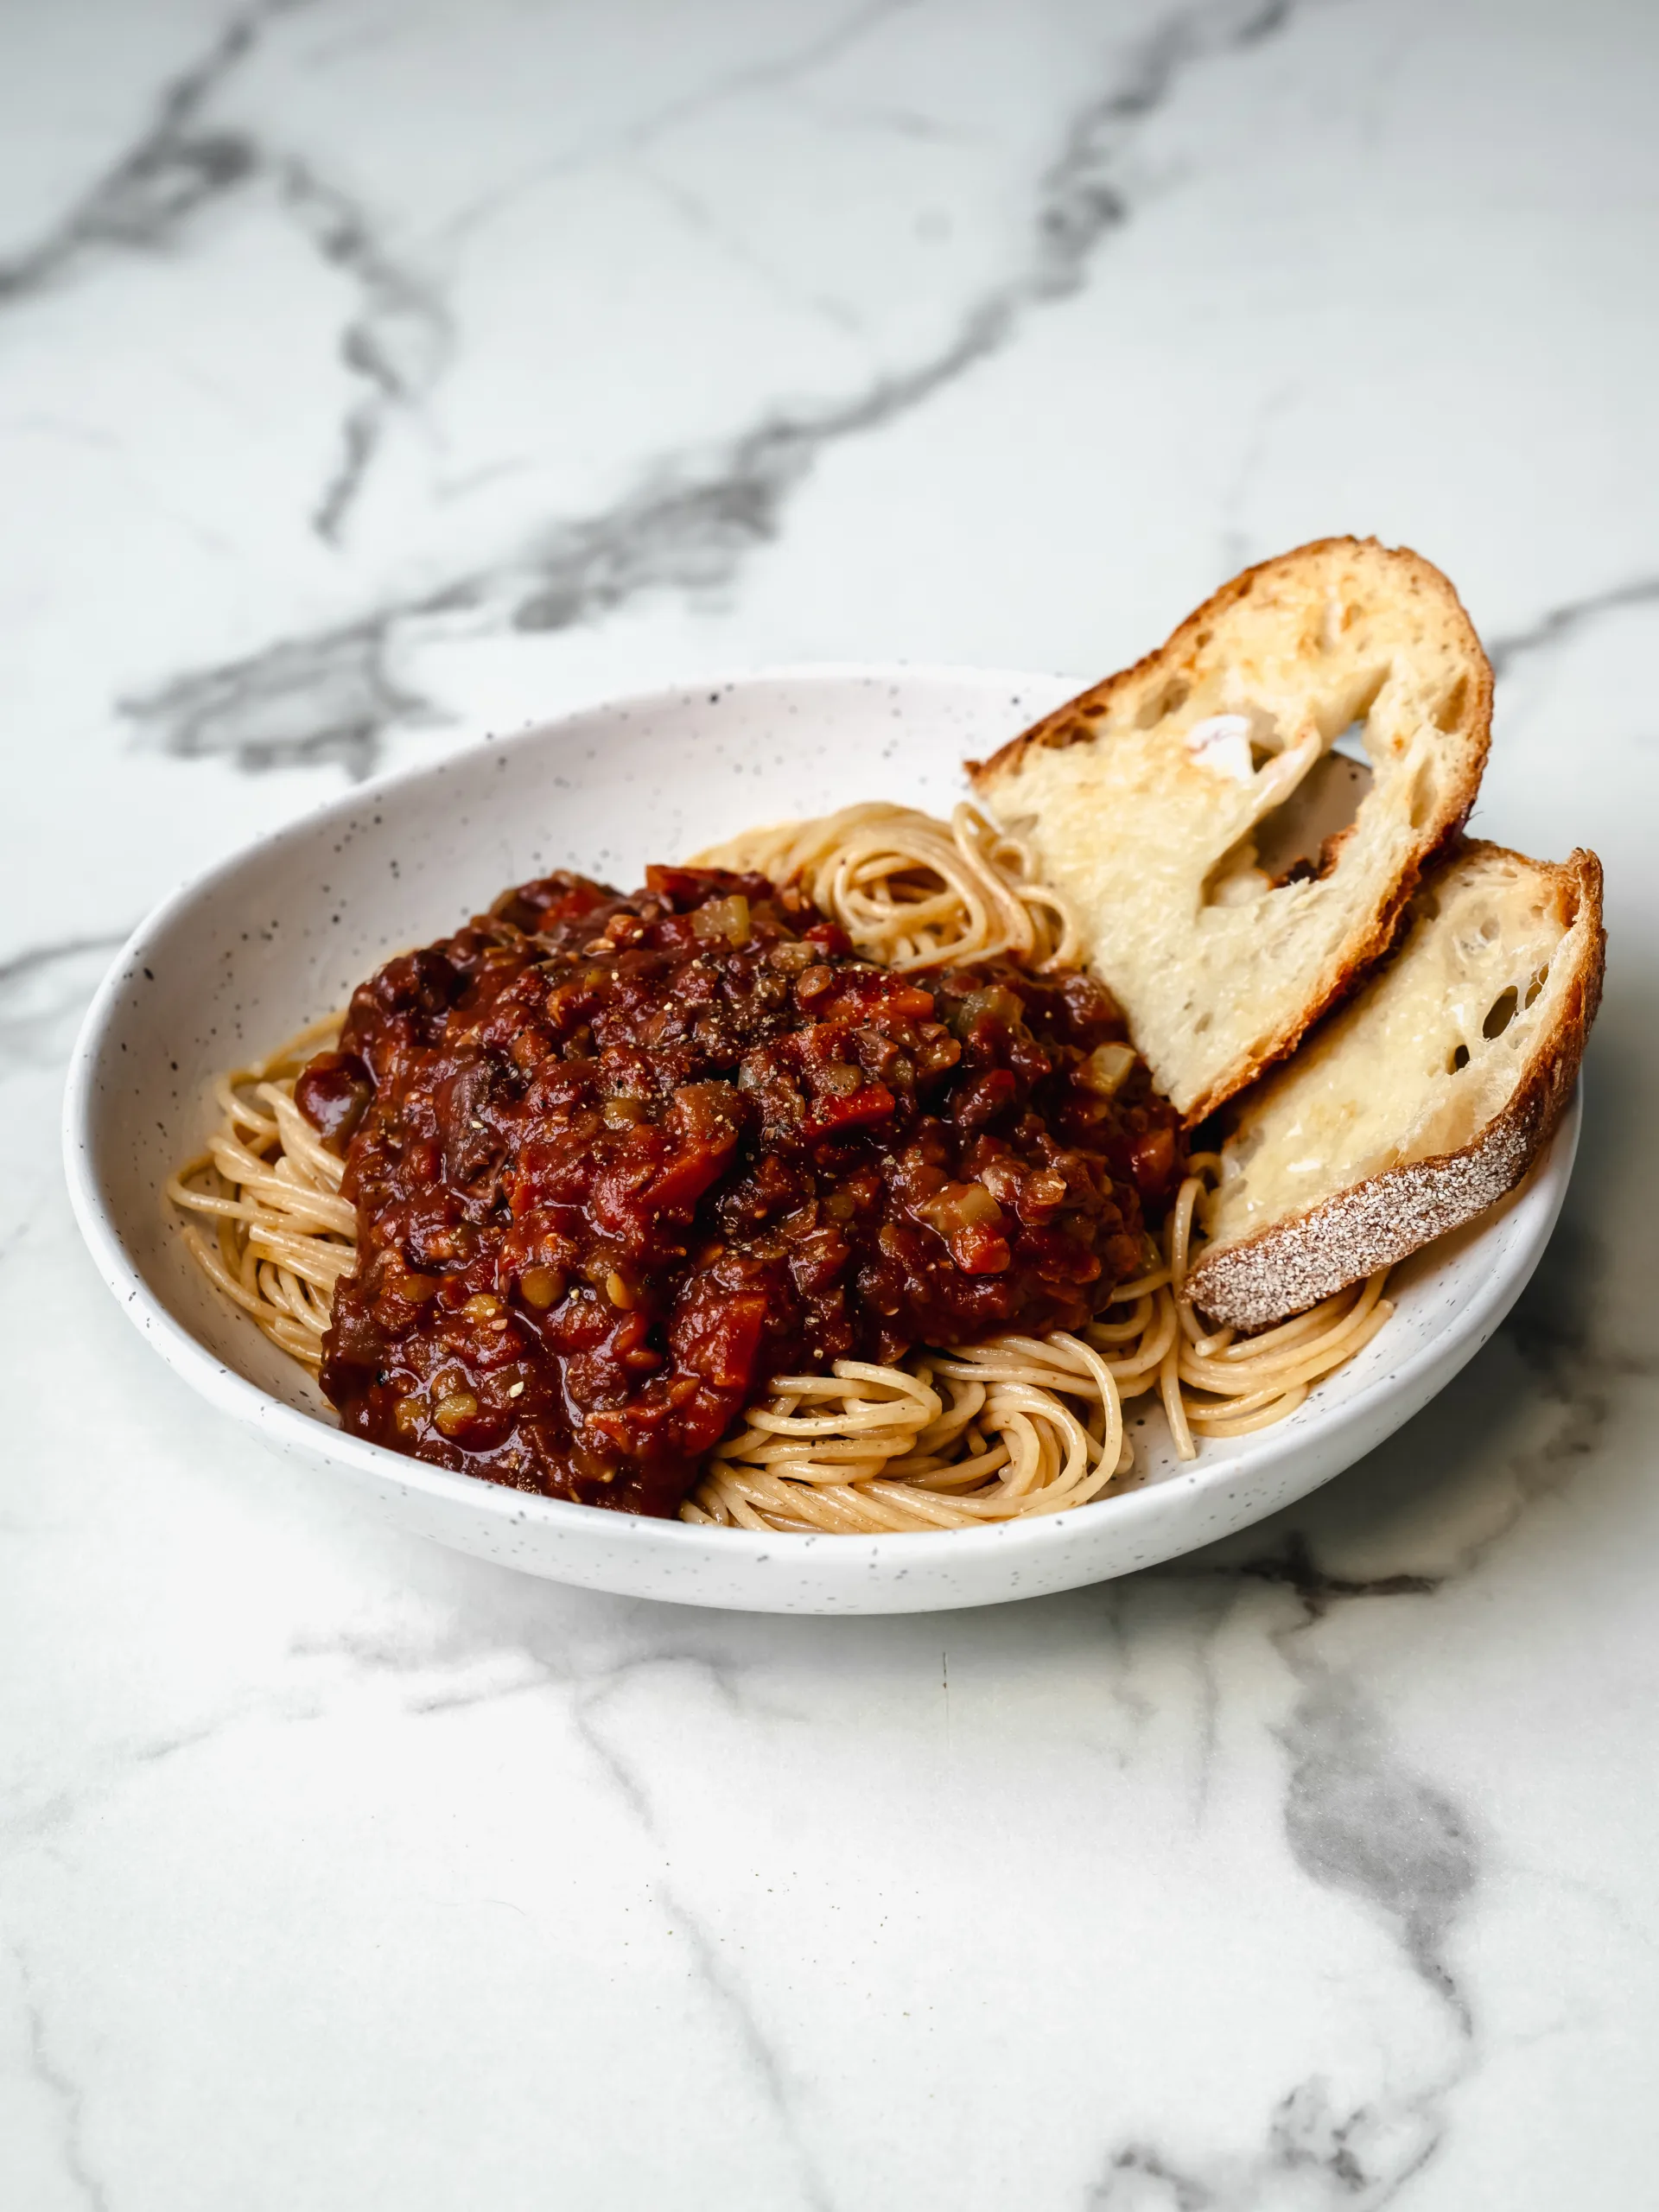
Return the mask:
POLYGON ((1203 606, 1194 608, 1194 613, 1190 613, 1155 653, 1135 661, 1133 668, 1124 668, 1117 675, 1106 677, 1104 684, 1095 684, 1091 690, 1068 699, 1062 708, 1055 708, 1053 714, 1033 723, 1031 730, 1009 739, 1009 743, 993 752, 989 761, 964 763, 973 787, 984 799, 995 803, 991 785, 1015 770, 1029 750, 1037 745, 1064 748, 1088 743, 1095 732, 1084 714, 1106 708, 1119 690, 1126 690, 1130 684, 1139 684, 1155 672, 1164 679, 1190 672, 1197 655, 1208 641, 1210 626, 1221 615, 1230 613, 1241 599, 1248 599, 1263 584, 1270 586, 1281 575, 1305 566, 1307 562, 1343 553, 1385 553, 1391 562, 1402 564, 1402 575, 1407 577, 1405 588, 1429 593, 1442 613, 1447 613, 1453 624, 1462 628, 1462 646, 1471 672, 1471 692, 1460 717, 1467 728, 1467 759, 1462 772, 1449 781, 1438 807, 1425 821, 1416 849, 1407 856, 1389 896, 1371 911, 1363 927, 1356 927, 1349 933, 1334 967, 1321 978, 1318 987, 1310 991, 1303 1004, 1294 1013, 1285 1015, 1285 1020, 1259 1042, 1254 1053, 1234 1062, 1199 1099, 1192 1102, 1183 1117, 1188 1128, 1208 1119, 1208 1115, 1212 1115, 1230 1097, 1237 1097, 1239 1091, 1256 1082, 1265 1068, 1274 1066, 1296 1048, 1321 1015, 1352 998, 1367 971, 1391 947, 1405 907, 1416 891, 1425 867, 1429 867, 1429 863, 1444 852, 1451 841, 1455 841, 1462 825, 1469 821, 1469 810, 1475 803, 1491 745, 1493 672, 1480 637, 1475 635, 1475 626, 1469 619, 1469 611, 1458 597, 1451 580, 1436 568, 1433 562, 1413 553, 1409 546, 1389 549, 1378 538, 1316 538, 1305 546, 1296 546, 1290 553, 1276 553, 1272 560, 1256 562, 1254 568, 1245 568, 1241 575, 1232 577, 1230 584, 1223 584, 1221 591, 1212 593, 1203 606))

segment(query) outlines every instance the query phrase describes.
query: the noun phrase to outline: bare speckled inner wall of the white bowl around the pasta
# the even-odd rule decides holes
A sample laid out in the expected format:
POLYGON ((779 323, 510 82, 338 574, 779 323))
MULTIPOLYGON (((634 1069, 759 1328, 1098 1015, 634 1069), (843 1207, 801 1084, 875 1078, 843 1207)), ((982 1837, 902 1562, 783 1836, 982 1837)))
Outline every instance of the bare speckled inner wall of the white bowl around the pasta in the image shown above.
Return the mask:
MULTIPOLYGON (((991 752, 1068 688, 1037 675, 887 668, 657 692, 369 785, 223 863, 144 925, 88 1018, 71 1084, 71 1183, 106 1276, 117 1294, 137 1276, 170 1358, 184 1352, 186 1367, 199 1365, 190 1349, 199 1347, 219 1378, 254 1385, 345 1442, 305 1374, 201 1279, 161 1201, 166 1177, 215 1119, 212 1077, 343 1004, 389 951, 456 927, 504 885, 549 867, 635 885, 648 860, 684 858, 750 823, 860 799, 947 814, 962 796, 962 761, 991 752)), ((1349 1367, 1287 1422, 1206 1444, 1199 1480, 1265 1467, 1491 1303, 1495 1279, 1531 1267, 1568 1161, 1564 1130, 1528 1190, 1398 1272, 1396 1318, 1349 1367)), ((195 1380, 206 1387, 204 1374, 195 1380)), ((223 1398, 223 1380, 215 1396, 223 1398)), ((1190 1486, 1194 1469, 1175 1458, 1148 1400, 1130 1407, 1130 1425, 1146 1486, 1177 1473, 1190 1486)), ((484 1511, 515 1495, 467 1489, 482 1493, 484 1511)))

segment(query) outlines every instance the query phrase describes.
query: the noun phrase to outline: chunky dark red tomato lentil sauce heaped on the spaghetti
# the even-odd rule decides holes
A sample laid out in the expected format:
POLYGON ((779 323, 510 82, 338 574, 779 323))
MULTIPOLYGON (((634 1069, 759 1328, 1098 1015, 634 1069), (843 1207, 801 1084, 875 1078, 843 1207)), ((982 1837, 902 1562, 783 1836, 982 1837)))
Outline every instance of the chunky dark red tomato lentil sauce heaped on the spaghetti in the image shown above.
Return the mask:
POLYGON ((299 1077, 358 1219, 323 1389, 394 1451, 675 1513, 772 1376, 1079 1327, 1139 1272, 1181 1137, 1121 1040, 1088 975, 900 975, 761 876, 526 883, 299 1077))

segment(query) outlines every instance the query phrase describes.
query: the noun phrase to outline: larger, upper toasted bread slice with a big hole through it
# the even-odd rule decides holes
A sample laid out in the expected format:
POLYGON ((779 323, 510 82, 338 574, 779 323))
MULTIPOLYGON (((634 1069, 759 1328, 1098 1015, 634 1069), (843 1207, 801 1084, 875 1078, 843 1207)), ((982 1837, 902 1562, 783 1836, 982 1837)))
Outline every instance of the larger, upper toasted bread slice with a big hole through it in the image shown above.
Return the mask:
POLYGON ((1091 967, 1199 1121, 1389 945, 1473 805, 1489 734, 1491 668, 1451 584, 1416 553, 1327 538, 1248 568, 1148 659, 969 770, 1079 909, 1091 967), (1354 723, 1369 790, 1352 827, 1316 874, 1274 880, 1325 781, 1312 772, 1354 723))

